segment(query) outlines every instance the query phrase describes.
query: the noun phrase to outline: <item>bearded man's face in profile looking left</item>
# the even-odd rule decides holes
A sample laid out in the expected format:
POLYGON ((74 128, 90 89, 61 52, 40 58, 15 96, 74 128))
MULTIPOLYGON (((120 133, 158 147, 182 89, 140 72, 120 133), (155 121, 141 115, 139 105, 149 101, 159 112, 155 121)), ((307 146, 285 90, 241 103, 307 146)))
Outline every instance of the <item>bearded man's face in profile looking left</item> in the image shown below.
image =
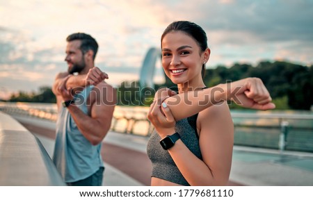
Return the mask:
POLYGON ((74 72, 79 73, 86 67, 83 52, 79 47, 81 47, 81 40, 67 42, 65 61, 68 66, 67 72, 70 74, 73 74, 74 72))

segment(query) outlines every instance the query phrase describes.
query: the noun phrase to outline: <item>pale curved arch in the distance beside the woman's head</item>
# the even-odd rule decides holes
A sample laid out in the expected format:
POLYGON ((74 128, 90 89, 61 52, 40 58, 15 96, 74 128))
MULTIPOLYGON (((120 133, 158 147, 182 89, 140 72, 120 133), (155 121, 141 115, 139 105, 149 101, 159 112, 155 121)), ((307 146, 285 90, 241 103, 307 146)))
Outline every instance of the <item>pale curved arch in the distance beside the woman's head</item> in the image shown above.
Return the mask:
POLYGON ((139 79, 141 88, 143 87, 154 88, 153 82, 154 71, 156 69, 155 64, 157 63, 158 57, 161 57, 161 52, 157 48, 152 47, 147 51, 145 60, 143 60, 143 65, 141 67, 141 74, 139 79))

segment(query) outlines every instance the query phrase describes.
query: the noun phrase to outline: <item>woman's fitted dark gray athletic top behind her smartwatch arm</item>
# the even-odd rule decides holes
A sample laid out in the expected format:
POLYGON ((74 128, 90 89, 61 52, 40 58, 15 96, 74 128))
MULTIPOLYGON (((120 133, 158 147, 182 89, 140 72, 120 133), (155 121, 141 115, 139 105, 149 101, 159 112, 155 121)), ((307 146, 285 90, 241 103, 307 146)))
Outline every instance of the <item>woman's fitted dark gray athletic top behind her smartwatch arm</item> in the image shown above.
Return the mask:
MULTIPOLYGON (((179 133, 182 142, 198 158, 202 160, 199 138, 196 128, 198 114, 176 122, 175 131, 179 133)), ((159 134, 153 131, 147 143, 147 155, 152 162, 152 177, 161 178, 179 185, 189 185, 168 151, 161 147, 159 134)))

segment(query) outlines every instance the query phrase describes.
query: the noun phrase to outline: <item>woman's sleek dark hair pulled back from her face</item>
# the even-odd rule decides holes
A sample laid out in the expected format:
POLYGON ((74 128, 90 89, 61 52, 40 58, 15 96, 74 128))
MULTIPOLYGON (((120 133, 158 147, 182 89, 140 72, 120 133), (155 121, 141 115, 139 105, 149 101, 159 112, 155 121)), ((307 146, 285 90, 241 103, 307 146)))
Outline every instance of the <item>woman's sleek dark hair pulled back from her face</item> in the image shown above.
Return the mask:
MULTIPOLYGON (((201 51, 205 51, 207 49, 207 33, 198 25, 193 22, 188 21, 177 21, 172 22, 172 24, 168 25, 164 30, 161 36, 161 44, 164 36, 172 31, 183 31, 187 35, 191 36, 199 44, 201 51)), ((202 64, 202 78, 204 78, 205 74, 205 65, 202 64)))

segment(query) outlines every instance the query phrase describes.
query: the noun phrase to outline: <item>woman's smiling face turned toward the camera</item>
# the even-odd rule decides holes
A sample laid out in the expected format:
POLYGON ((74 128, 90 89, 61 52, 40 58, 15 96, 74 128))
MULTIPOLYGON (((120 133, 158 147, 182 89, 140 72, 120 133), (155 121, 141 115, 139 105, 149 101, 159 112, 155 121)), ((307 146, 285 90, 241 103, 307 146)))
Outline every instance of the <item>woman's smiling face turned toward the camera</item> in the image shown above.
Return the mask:
POLYGON ((191 85, 202 80, 201 70, 205 60, 198 43, 191 36, 182 31, 172 31, 164 36, 161 47, 163 69, 173 83, 191 85))

